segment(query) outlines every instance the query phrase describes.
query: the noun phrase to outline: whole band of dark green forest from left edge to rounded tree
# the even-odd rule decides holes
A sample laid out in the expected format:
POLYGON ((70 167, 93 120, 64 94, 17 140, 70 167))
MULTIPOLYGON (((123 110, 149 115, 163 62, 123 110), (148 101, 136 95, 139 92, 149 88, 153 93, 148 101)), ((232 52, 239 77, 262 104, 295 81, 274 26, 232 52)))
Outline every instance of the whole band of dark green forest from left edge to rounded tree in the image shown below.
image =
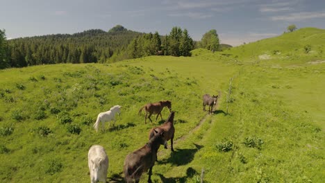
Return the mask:
POLYGON ((117 25, 108 32, 100 29, 82 33, 44 35, 6 40, 0 30, 0 69, 38 64, 115 62, 148 55, 190 56, 194 48, 217 51, 216 30, 194 42, 188 30, 173 27, 169 35, 139 33, 117 25))

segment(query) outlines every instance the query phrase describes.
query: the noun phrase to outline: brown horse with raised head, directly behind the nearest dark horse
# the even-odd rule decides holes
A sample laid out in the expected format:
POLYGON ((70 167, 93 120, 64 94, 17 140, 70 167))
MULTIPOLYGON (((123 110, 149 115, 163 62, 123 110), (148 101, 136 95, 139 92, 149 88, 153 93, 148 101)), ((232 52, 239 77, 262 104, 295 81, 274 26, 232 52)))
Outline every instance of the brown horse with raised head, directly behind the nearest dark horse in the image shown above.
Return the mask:
MULTIPOLYGON (((166 120, 166 122, 163 123, 163 125, 160 125, 158 127, 154 127, 149 132, 149 139, 151 139, 156 134, 156 132, 164 132, 165 140, 169 141, 169 139, 170 139, 170 143, 171 143, 171 146, 172 146, 172 151, 174 151, 173 140, 174 140, 174 134, 175 134, 174 116, 175 116, 175 112, 172 111, 169 114, 169 117, 166 120)), ((167 148, 167 143, 165 144, 165 148, 167 148)))

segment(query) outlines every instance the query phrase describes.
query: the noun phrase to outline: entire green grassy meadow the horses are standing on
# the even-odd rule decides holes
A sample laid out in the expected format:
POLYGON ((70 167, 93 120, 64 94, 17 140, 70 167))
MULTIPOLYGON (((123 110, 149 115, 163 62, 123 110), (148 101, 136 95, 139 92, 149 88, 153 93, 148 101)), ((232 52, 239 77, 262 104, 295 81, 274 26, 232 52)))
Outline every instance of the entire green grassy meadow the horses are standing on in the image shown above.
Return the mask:
POLYGON ((200 182, 202 169, 204 182, 322 182, 322 37, 325 30, 306 28, 223 52, 196 49, 190 58, 1 70, 0 182, 89 182, 94 144, 106 148, 107 181, 121 182, 126 155, 164 122, 144 124, 138 111, 161 100, 176 111, 175 152, 160 148, 153 182, 200 182), (219 91, 215 114, 206 115, 202 95, 219 91), (115 126, 96 133, 97 114, 113 105, 122 105, 115 126))

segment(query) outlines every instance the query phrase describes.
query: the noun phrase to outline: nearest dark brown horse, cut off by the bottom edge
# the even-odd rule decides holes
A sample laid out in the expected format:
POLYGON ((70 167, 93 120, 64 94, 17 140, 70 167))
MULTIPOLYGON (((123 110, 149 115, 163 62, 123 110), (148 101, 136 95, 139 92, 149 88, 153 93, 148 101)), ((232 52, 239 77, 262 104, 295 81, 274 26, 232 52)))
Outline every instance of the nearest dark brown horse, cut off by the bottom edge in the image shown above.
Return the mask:
POLYGON ((124 160, 124 179, 126 182, 139 182, 142 173, 149 169, 148 182, 151 182, 152 168, 157 159, 160 145, 165 145, 164 132, 156 132, 142 148, 133 151, 124 160))

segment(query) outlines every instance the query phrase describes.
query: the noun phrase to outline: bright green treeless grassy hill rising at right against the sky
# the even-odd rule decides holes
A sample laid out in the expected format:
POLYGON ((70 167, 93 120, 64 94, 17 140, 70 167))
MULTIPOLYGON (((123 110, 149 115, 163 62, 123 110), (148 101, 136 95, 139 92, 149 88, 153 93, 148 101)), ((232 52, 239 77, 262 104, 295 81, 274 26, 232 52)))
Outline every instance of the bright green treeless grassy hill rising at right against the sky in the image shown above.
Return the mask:
POLYGON ((294 59, 294 55, 303 57, 308 52, 308 54, 315 54, 317 58, 325 51, 324 40, 324 29, 301 28, 292 33, 283 33, 277 37, 233 47, 225 50, 224 54, 242 59, 259 58, 260 55, 265 55, 265 58, 269 59, 280 57, 294 59), (305 51, 308 47, 310 51, 305 51))

